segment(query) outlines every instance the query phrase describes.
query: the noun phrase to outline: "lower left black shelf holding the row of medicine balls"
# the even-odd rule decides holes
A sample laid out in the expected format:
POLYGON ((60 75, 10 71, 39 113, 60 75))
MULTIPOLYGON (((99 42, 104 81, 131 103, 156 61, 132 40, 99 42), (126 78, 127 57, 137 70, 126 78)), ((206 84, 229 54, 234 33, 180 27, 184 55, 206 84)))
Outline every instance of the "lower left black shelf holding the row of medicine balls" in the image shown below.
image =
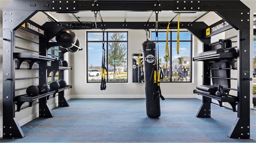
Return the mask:
POLYGON ((72 88, 72 86, 68 85, 64 88, 60 88, 58 90, 52 90, 48 93, 40 94, 40 95, 37 95, 37 96, 34 96, 34 97, 28 96, 27 94, 16 96, 14 101, 16 102, 15 104, 17 105, 17 112, 20 111, 20 108, 21 108, 22 104, 25 103, 25 102, 29 102, 29 107, 31 107, 32 102, 34 102, 35 100, 40 99, 40 98, 44 98, 46 96, 50 96, 52 94, 54 94, 54 96, 55 96, 56 93, 64 91, 64 90, 69 89, 69 88, 72 88))

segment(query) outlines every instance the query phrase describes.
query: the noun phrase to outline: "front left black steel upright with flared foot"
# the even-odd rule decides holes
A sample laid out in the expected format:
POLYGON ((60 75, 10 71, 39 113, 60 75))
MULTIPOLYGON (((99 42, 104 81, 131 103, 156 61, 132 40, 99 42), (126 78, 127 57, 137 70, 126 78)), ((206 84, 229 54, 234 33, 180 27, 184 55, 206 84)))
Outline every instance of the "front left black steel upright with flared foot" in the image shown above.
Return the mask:
POLYGON ((22 132, 15 118, 15 31, 4 29, 3 37, 3 139, 22 138, 22 132))

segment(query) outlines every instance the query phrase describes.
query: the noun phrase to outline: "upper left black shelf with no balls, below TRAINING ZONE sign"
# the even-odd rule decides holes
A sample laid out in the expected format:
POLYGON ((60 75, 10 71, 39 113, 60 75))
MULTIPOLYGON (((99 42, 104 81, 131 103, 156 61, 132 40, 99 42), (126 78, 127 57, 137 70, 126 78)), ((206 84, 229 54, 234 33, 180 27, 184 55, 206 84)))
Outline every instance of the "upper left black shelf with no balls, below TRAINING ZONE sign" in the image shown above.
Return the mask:
POLYGON ((56 58, 46 57, 42 55, 36 55, 32 53, 15 53, 15 62, 17 63, 17 68, 20 69, 22 62, 27 62, 29 64, 29 69, 32 69, 34 63, 40 63, 41 61, 55 61, 56 58))

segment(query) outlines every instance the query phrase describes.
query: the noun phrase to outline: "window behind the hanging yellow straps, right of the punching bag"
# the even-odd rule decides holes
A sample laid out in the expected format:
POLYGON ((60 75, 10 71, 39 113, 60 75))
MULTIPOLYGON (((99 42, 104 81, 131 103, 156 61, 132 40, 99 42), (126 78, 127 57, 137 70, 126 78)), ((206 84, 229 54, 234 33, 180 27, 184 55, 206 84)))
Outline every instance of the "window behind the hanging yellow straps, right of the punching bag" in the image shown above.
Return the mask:
MULTIPOLYGON (((191 82, 192 35, 180 31, 179 54, 177 54, 177 31, 169 31, 168 46, 170 56, 165 56, 166 31, 158 31, 159 63, 164 79, 161 82, 191 82), (171 63, 170 63, 171 59, 171 63)), ((152 32, 152 41, 156 42, 156 32, 152 32)))

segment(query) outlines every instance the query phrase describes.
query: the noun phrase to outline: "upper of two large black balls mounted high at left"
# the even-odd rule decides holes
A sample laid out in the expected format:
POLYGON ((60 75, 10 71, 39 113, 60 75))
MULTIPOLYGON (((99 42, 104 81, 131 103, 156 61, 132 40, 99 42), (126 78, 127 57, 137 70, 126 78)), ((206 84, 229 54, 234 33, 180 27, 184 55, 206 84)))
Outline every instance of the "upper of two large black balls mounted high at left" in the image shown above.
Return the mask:
POLYGON ((68 45, 60 45, 60 47, 68 49, 76 43, 76 33, 71 29, 63 29, 56 35, 55 39, 57 42, 71 42, 68 45))

